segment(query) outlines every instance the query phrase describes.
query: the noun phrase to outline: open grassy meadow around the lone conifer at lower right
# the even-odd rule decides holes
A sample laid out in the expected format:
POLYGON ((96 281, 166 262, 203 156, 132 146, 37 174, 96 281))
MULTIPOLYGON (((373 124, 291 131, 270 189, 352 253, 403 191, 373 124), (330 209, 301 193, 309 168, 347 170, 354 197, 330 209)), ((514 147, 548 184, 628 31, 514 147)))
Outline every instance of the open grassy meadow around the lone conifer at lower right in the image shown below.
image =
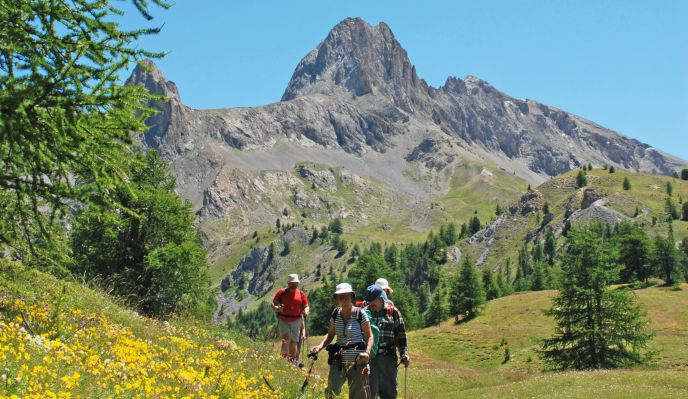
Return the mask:
MULTIPOLYGON (((652 364, 633 370, 543 373, 536 349, 553 332, 552 291, 503 297, 474 320, 410 333, 409 397, 670 398, 688 395, 688 285, 636 291, 656 336, 652 364), (505 361, 508 347, 510 359, 505 361)), ((403 371, 401 371, 403 381, 403 371)), ((403 386, 403 383, 401 384, 403 386)))

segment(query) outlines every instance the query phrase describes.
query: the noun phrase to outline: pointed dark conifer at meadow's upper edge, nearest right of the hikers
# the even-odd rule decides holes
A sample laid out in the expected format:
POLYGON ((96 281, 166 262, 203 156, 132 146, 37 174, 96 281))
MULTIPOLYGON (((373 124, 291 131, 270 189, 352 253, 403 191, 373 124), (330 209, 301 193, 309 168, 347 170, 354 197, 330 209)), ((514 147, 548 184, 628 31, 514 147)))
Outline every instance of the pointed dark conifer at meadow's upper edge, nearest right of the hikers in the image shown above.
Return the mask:
POLYGON ((450 311, 457 317, 471 318, 485 304, 485 289, 470 256, 464 257, 459 273, 452 279, 449 292, 450 311))

